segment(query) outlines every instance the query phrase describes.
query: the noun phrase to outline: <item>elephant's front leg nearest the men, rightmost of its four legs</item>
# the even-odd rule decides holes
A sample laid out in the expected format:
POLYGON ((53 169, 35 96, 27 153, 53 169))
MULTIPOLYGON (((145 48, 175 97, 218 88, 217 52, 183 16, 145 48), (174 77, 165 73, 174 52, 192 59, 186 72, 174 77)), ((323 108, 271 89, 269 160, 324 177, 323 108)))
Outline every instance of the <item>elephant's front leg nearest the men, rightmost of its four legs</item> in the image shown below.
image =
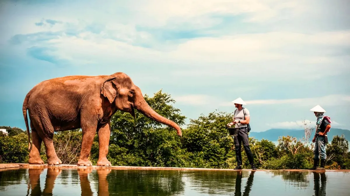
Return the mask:
POLYGON ((107 160, 108 146, 111 135, 110 122, 102 125, 98 129, 98 166, 112 166, 111 162, 107 160))

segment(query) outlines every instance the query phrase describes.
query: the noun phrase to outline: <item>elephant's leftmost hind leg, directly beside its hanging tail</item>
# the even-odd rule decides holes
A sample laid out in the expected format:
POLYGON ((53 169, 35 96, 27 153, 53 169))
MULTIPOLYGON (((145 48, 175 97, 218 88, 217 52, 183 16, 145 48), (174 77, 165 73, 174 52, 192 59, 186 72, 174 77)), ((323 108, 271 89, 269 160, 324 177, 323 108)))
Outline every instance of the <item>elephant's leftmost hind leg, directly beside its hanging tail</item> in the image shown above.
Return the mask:
POLYGON ((30 123, 31 128, 31 141, 32 146, 29 153, 29 164, 44 164, 44 161, 40 158, 40 148, 41 148, 41 142, 42 139, 39 137, 38 133, 36 132, 36 129, 34 128, 33 124, 30 123))

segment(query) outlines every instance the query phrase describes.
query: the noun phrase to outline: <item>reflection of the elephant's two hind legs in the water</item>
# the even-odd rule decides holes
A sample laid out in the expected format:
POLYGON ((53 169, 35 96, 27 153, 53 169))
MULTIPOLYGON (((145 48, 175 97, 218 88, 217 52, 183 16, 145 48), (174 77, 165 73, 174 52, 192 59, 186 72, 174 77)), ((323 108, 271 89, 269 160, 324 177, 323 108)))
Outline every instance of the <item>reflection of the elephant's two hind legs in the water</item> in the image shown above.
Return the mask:
POLYGON ((28 183, 28 191, 27 196, 29 195, 52 195, 52 189, 54 189, 55 180, 59 174, 61 174, 62 169, 59 167, 48 167, 46 180, 45 180, 45 188, 41 192, 40 187, 40 174, 45 170, 43 167, 39 168, 29 168, 29 183, 28 183))

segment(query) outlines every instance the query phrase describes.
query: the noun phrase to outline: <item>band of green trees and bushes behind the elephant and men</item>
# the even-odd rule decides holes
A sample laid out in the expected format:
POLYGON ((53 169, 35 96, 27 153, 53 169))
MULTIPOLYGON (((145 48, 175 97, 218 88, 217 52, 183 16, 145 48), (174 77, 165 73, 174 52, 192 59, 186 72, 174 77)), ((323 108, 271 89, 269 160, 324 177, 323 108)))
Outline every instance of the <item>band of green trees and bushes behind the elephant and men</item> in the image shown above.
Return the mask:
MULTIPOLYGON (((157 113, 185 125, 186 117, 175 108, 175 100, 161 90, 145 100, 157 113)), ((214 111, 191 119, 182 129, 182 137, 176 130, 147 118, 135 110, 130 113, 117 111, 111 119, 111 137, 107 158, 112 165, 155 167, 202 167, 234 168, 237 166, 233 137, 229 136, 226 124, 232 113, 214 111)), ((2 127, 9 136, 0 133, 0 163, 27 163, 28 136, 19 128, 2 127)), ((282 136, 276 146, 268 140, 258 141, 249 137, 254 164, 260 169, 306 169, 313 165, 313 146, 309 144, 310 130, 306 137, 297 141, 295 137, 282 136)), ((63 164, 77 164, 82 142, 82 131, 70 130, 55 133, 54 146, 63 164)), ((344 136, 335 136, 327 144, 328 169, 349 169, 350 152, 344 136)), ((98 135, 93 140, 90 160, 98 160, 98 135)), ((241 148, 243 168, 250 168, 246 153, 241 148)), ((46 161, 44 144, 41 157, 46 161)))

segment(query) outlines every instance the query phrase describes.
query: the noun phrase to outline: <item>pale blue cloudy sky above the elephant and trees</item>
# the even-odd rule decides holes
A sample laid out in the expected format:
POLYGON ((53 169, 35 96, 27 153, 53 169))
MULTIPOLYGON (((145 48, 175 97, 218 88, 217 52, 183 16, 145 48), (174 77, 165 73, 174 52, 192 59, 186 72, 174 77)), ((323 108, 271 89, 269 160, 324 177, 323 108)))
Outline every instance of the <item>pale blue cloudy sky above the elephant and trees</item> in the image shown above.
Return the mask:
POLYGON ((23 100, 37 83, 124 72, 162 90, 190 119, 233 112, 251 131, 313 125, 320 105, 350 129, 347 0, 0 2, 0 126, 25 130, 23 100))

